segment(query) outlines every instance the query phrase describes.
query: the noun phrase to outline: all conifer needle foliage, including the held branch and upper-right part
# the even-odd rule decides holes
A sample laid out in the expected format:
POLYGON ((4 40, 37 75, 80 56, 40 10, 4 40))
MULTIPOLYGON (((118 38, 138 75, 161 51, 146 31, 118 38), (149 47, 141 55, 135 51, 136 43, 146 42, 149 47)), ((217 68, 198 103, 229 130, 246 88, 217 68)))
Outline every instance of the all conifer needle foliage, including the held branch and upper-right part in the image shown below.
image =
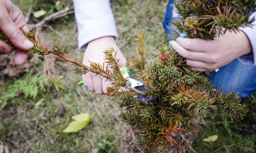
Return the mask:
MULTIPOLYGON (((225 34, 226 31, 239 32, 239 27, 250 26, 254 18, 249 19, 249 16, 256 9, 255 1, 249 0, 181 0, 173 6, 180 14, 179 18, 172 21, 178 29, 173 30, 175 36, 185 33, 188 38, 205 40, 214 40, 215 36, 225 34)), ((247 113, 237 93, 222 93, 220 89, 215 89, 207 78, 197 71, 191 71, 185 59, 171 47, 160 46, 158 56, 146 63, 146 38, 143 38, 143 34, 136 38, 138 51, 136 56, 131 56, 129 64, 141 76, 144 85, 150 86, 151 89, 145 93, 125 84, 113 48, 104 52, 108 65, 92 62, 89 67, 64 55, 63 48, 55 41, 51 47, 47 47, 35 39, 35 34, 25 35, 35 44, 28 53, 42 56, 55 54, 60 60, 73 63, 78 75, 91 71, 101 75, 105 81, 112 81, 113 87, 108 87, 107 91, 120 99, 118 103, 122 108, 122 121, 141 130, 135 142, 145 152, 158 152, 159 149, 167 149, 173 142, 179 143, 172 138, 179 131, 198 132, 195 118, 199 111, 213 110, 217 113, 219 108, 224 108, 231 119, 243 117, 247 113), (166 59, 163 60, 163 56, 166 59), (158 98, 150 102, 140 101, 136 98, 138 94, 158 98)), ((174 39, 176 37, 173 36, 174 39)), ((0 33, 0 40, 11 44, 3 33, 0 33)))

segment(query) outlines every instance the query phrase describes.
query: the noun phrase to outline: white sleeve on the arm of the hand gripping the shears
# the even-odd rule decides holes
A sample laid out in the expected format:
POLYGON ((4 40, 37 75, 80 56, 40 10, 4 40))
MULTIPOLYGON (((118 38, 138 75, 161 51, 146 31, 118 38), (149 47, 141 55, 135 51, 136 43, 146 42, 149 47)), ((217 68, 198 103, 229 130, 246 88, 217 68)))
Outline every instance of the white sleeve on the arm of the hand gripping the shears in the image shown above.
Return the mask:
POLYGON ((105 36, 118 37, 113 12, 108 0, 73 0, 78 27, 78 47, 105 36))

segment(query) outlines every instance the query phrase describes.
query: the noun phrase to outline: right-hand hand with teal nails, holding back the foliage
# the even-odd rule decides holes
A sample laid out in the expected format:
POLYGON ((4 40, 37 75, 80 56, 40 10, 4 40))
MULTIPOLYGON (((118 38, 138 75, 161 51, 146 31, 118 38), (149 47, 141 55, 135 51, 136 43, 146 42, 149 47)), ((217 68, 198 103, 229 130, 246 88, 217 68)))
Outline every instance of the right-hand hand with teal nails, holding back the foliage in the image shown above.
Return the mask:
POLYGON ((237 34, 227 31, 223 36, 215 37, 215 40, 179 37, 177 42, 170 41, 169 44, 186 58, 191 70, 198 71, 215 70, 252 52, 250 41, 242 31, 237 34))

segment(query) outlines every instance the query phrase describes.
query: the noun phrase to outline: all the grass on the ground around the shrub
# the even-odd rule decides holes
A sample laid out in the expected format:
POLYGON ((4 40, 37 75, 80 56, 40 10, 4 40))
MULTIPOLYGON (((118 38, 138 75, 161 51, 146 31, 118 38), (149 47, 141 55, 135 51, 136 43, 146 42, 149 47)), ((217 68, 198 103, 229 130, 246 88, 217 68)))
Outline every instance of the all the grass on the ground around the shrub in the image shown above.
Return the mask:
MULTIPOLYGON (((24 12, 29 9, 29 0, 13 2, 24 12)), ((148 61, 155 57, 154 50, 158 46, 168 44, 161 23, 165 4, 166 1, 150 0, 112 2, 119 33, 117 44, 126 58, 136 49, 134 38, 139 33, 144 32, 148 37, 148 61)), ((61 36, 45 28, 39 30, 42 41, 49 45, 51 38, 57 38, 63 42, 68 55, 82 59, 84 50, 77 49, 74 15, 65 18, 65 22, 63 19, 55 20, 50 25, 61 36)), ((113 97, 96 95, 87 88, 77 86, 81 77, 74 75, 72 68, 65 68, 70 64, 53 62, 55 77, 64 77, 63 89, 57 91, 49 85, 47 91, 39 91, 35 99, 19 94, 0 111, 0 140, 8 145, 10 152, 139 152, 133 145, 131 127, 120 121, 120 108, 113 97), (42 102, 35 108, 39 100, 42 102), (62 106, 66 107, 66 112, 60 117, 57 110, 62 106), (72 134, 62 133, 73 115, 84 112, 91 114, 92 118, 83 130, 72 134)), ((45 66, 43 62, 41 65, 45 66)), ((6 94, 6 88, 18 79, 6 79, 0 96, 6 94)), ((251 96, 244 104, 249 113, 243 120, 231 122, 221 111, 216 117, 202 113, 198 123, 201 131, 194 139, 193 148, 197 152, 253 152, 256 142, 253 112, 256 98, 251 96), (202 141, 214 134, 219 136, 217 141, 202 141)), ((188 152, 191 150, 188 149, 188 152)))

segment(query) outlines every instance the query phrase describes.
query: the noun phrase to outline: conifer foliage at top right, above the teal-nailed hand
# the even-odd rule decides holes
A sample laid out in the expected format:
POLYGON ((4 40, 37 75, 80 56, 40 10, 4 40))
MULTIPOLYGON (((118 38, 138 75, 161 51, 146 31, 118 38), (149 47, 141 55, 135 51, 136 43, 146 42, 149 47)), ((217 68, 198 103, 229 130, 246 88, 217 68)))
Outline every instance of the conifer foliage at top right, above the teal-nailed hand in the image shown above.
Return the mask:
POLYGON ((185 33, 188 38, 214 40, 226 31, 236 33, 239 27, 251 27, 255 19, 249 16, 256 3, 253 0, 181 0, 174 2, 173 7, 180 15, 172 21, 178 29, 178 32, 174 30, 176 37, 185 33))

